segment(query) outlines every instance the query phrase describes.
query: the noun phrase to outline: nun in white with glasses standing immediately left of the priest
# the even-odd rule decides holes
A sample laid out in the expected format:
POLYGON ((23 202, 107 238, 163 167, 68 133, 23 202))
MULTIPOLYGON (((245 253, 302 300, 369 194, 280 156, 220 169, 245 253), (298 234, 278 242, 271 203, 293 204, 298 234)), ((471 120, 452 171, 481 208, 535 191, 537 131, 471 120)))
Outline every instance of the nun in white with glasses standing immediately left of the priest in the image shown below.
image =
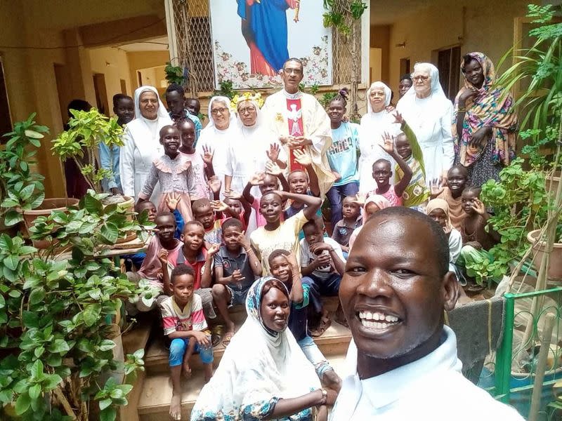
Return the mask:
POLYGON ((203 147, 211 148, 213 169, 218 180, 221 180, 221 199, 224 197, 225 175, 232 176, 230 169, 230 142, 240 135, 235 116, 230 112, 230 99, 215 96, 209 101, 209 124, 201 131, 197 140, 197 153, 203 154, 203 147))

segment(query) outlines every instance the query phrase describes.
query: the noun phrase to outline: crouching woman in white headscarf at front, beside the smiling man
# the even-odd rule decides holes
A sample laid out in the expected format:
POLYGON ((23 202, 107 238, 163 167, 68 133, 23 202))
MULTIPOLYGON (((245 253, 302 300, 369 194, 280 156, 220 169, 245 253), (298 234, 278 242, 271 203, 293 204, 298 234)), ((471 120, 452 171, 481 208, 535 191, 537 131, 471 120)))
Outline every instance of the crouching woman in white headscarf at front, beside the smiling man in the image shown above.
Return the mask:
POLYGON ((287 329, 289 292, 281 281, 266 276, 250 287, 247 319, 234 335, 221 363, 201 390, 192 421, 312 421, 314 406, 323 406, 334 392, 320 389, 313 365, 287 329))

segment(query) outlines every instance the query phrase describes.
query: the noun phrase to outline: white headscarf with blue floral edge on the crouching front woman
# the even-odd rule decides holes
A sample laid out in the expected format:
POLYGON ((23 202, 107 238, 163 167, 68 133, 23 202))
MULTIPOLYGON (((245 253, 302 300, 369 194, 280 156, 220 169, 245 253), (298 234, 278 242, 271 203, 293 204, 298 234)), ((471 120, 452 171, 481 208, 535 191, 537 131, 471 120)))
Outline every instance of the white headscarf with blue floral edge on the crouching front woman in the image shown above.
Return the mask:
MULTIPOLYGON (((247 319, 226 348, 211 381, 201 390, 192 421, 245 420, 249 413, 261 418, 279 399, 296 398, 320 388, 312 363, 291 331, 275 332, 263 323, 262 290, 271 279, 260 278, 249 288, 247 319)), ((312 419, 310 410, 308 413, 312 419)))

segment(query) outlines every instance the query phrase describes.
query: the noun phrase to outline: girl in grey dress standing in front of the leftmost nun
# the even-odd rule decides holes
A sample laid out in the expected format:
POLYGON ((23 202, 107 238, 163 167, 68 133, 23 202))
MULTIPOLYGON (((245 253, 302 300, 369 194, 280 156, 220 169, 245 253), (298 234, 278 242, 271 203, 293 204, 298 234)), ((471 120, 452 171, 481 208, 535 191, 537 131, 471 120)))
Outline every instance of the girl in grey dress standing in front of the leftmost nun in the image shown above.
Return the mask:
POLYGON ((164 155, 155 159, 138 201, 150 198, 156 183, 160 183, 162 196, 158 210, 168 210, 166 197, 170 194, 180 196, 177 209, 184 221, 192 220, 191 195, 197 196, 193 179, 191 162, 180 153, 180 131, 174 126, 164 126, 160 130, 160 143, 164 146, 164 155))

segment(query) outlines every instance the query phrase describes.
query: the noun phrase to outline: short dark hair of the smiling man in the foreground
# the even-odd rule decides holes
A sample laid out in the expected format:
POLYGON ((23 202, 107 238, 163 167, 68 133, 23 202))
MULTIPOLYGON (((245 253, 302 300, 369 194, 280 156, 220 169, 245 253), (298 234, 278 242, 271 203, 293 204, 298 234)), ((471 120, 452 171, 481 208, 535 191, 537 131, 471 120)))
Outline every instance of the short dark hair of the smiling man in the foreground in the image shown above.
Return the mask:
MULTIPOLYGON (((421 213, 419 210, 406 208, 405 206, 392 206, 391 208, 381 209, 372 216, 371 220, 384 218, 385 216, 391 220, 396 218, 412 218, 421 224, 427 225, 433 237, 433 243, 435 243, 439 275, 444 276, 449 272, 449 241, 443 231, 443 227, 429 218, 425 213, 421 213)), ((427 243, 427 239, 419 239, 419 241, 427 243)))

